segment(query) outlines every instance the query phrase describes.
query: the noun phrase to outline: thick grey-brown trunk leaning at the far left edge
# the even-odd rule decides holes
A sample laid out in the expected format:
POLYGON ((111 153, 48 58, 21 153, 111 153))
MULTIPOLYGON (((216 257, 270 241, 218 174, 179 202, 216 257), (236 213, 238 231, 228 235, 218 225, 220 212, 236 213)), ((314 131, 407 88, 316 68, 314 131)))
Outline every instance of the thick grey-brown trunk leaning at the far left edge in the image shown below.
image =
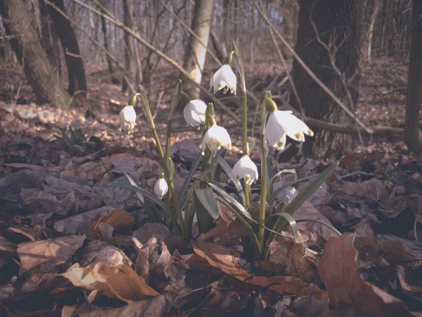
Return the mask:
POLYGON ((57 77, 46 52, 31 23, 30 13, 23 0, 1 0, 0 14, 8 35, 14 35, 11 46, 39 102, 48 102, 57 108, 70 105, 70 94, 57 84, 57 77))

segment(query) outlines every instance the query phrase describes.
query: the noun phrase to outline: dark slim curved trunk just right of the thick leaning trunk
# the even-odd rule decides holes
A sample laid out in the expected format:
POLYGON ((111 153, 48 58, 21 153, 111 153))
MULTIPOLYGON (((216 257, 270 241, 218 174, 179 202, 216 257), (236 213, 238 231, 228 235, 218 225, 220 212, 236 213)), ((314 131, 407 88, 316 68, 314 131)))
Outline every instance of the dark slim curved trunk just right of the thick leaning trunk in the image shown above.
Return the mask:
MULTIPOLYGON (((64 13, 66 13, 63 0, 54 0, 54 4, 64 13)), ((77 91, 87 92, 87 78, 85 77, 84 61, 80 55, 79 45, 75 32, 70 21, 58 13, 55 8, 50 6, 50 15, 53 19, 56 32, 60 38, 65 55, 66 67, 68 68, 69 92, 75 94, 77 91)))

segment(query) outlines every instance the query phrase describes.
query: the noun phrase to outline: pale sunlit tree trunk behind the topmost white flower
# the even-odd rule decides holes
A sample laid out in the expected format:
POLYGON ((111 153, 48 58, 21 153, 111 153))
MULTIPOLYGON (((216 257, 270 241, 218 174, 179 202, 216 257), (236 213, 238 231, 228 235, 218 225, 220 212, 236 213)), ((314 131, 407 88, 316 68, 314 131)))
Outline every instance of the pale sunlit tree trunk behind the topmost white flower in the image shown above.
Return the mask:
MULTIPOLYGON (((198 35, 201 44, 191 35, 191 39, 186 47, 183 67, 190 77, 200 84, 202 72, 207 56, 208 39, 210 38, 210 29, 212 23, 212 11, 214 8, 212 0, 196 0, 195 8, 193 8, 193 18, 191 29, 198 35)), ((196 88, 188 80, 184 80, 184 92, 191 96, 191 99, 199 98, 199 89, 196 88)))

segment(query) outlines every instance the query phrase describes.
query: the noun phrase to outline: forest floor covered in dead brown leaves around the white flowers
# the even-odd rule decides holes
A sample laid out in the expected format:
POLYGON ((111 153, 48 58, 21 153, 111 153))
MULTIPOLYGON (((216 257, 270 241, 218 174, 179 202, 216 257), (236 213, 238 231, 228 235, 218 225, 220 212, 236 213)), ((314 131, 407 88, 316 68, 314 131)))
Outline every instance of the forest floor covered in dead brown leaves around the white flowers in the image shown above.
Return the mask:
MULTIPOLYGON (((187 241, 147 223, 133 192, 108 186, 126 181, 120 173, 101 178, 115 168, 153 191, 161 162, 141 109, 134 135, 119 132, 117 116, 129 97, 108 84, 105 67, 87 72, 94 122, 78 109, 35 104, 22 69, 0 68, 0 316, 422 316, 415 313, 422 312, 422 160, 401 139, 364 138, 295 213, 331 223, 340 238, 324 225, 298 223, 298 240, 277 237, 267 261, 247 263, 238 252, 243 227, 222 206, 217 227, 187 241), (60 128, 69 135, 69 125, 89 125, 89 142, 60 148, 55 135, 63 137, 60 128)), ((257 96, 283 79, 268 65, 246 73, 254 74, 248 86, 257 96)), ((163 68, 146 87, 162 142, 176 80, 163 68)), ((358 118, 369 127, 402 128, 406 82, 401 61, 366 65, 358 118)), ((219 97, 241 108, 240 96, 219 97)), ((231 125, 234 151, 226 161, 233 166, 241 130, 222 113, 217 120, 231 125)), ((181 112, 174 129, 180 189, 201 134, 186 128, 181 112)), ((252 159, 259 163, 259 155, 252 159)), ((273 160, 274 172, 295 168, 300 178, 326 166, 273 160)), ((228 182, 224 173, 220 182, 228 182)))

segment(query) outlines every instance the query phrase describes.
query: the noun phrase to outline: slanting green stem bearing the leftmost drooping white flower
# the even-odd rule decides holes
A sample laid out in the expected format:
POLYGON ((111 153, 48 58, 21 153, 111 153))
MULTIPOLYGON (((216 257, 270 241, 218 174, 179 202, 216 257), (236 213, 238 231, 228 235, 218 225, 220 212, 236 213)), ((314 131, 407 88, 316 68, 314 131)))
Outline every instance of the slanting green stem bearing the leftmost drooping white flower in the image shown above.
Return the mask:
POLYGON ((174 204, 174 209, 176 209, 177 218, 178 218, 179 223, 180 223, 181 233, 182 233, 182 235, 186 236, 186 228, 185 228, 185 225, 184 225, 184 219, 183 219, 183 215, 181 214, 179 198, 177 197, 176 189, 174 188, 174 182, 173 182, 172 174, 171 174, 169 166, 167 164, 166 156, 164 155, 164 152, 162 151, 160 139, 158 139, 157 130, 155 130, 153 115, 151 113, 151 108, 149 106, 148 98, 146 97, 145 90, 143 89, 142 86, 139 86, 139 87, 141 89, 141 93, 140 94, 136 93, 136 96, 141 97, 142 104, 145 107, 146 115, 148 116, 148 120, 149 120, 149 122, 151 124, 151 128, 153 130, 153 136, 154 136, 154 139, 155 139, 155 144, 157 144, 158 154, 160 154, 160 157, 161 157, 161 160, 162 160, 162 166, 163 166, 164 172, 165 172, 165 176, 166 176, 169 188, 170 188, 170 192, 172 193, 172 201, 173 201, 173 204, 174 204))

